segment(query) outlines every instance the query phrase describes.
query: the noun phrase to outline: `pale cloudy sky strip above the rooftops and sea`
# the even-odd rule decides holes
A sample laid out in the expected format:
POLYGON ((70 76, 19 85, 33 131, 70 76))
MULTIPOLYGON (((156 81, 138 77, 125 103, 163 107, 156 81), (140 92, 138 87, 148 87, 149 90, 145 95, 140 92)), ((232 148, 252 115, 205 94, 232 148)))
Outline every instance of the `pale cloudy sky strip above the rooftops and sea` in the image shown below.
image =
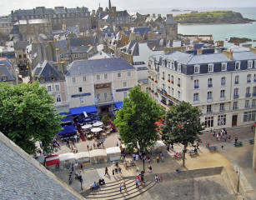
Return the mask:
MULTIPOLYGON (((118 10, 127 9, 136 11, 137 9, 161 8, 161 7, 256 7, 255 0, 112 0, 112 5, 118 10)), ((88 7, 97 9, 108 6, 108 0, 0 0, 0 16, 11 13, 16 9, 31 9, 33 7, 88 7)))

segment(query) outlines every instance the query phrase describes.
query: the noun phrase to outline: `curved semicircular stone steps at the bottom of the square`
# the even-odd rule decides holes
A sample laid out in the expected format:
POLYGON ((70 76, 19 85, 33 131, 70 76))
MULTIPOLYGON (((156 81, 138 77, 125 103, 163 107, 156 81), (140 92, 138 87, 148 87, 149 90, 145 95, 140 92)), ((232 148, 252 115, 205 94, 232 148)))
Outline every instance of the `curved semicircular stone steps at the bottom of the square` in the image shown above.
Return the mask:
POLYGON ((135 180, 125 179, 127 190, 124 190, 122 187, 122 193, 120 193, 120 189, 118 187, 120 183, 122 183, 123 185, 123 180, 118 180, 112 183, 106 183, 101 188, 98 188, 98 190, 93 190, 85 198, 93 200, 131 199, 148 191, 148 189, 152 188, 155 184, 154 182, 147 181, 144 183, 143 186, 139 186, 139 188, 136 188, 135 180))

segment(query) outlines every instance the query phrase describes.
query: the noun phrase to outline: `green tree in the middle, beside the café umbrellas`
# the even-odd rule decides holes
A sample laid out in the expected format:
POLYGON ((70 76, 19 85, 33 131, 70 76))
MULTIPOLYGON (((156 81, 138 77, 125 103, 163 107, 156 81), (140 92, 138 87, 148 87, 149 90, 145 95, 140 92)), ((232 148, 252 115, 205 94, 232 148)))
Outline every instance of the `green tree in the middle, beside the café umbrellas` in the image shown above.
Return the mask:
POLYGON ((123 108, 116 112, 115 125, 120 138, 128 148, 145 151, 158 139, 157 122, 164 114, 163 108, 142 92, 138 86, 129 90, 123 108))

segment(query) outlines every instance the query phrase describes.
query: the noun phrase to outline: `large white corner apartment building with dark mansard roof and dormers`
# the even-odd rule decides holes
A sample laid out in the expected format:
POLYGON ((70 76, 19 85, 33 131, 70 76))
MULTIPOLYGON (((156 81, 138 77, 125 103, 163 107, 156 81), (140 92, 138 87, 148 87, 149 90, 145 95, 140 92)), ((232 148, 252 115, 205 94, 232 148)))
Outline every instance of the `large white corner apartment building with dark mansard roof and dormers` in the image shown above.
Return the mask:
POLYGON ((255 121, 254 52, 170 52, 150 57, 148 66, 148 91, 153 99, 164 107, 182 101, 199 107, 205 130, 255 121))

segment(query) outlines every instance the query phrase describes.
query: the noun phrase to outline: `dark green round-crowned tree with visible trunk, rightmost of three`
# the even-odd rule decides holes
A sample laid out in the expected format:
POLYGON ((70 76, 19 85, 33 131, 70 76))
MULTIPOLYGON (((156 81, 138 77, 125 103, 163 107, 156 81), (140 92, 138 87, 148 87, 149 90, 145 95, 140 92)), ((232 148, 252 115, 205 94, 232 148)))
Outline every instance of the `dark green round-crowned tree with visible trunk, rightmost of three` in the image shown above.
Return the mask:
POLYGON ((202 112, 198 107, 192 107, 188 102, 181 102, 170 107, 166 113, 163 125, 164 138, 173 143, 183 144, 183 166, 185 166, 185 153, 188 143, 200 141, 199 135, 203 131, 203 123, 200 122, 202 112))

